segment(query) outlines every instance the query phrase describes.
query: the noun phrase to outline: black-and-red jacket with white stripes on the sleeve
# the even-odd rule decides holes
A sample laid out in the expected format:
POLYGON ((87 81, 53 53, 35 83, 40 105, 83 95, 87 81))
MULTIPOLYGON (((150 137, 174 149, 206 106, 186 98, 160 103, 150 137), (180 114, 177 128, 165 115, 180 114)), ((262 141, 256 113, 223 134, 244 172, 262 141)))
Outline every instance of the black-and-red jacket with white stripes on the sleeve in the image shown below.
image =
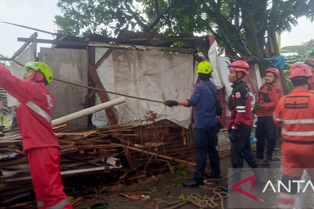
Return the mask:
POLYGON ((249 88, 244 81, 231 86, 233 89, 229 97, 231 116, 229 128, 238 125, 253 125, 252 105, 249 88))

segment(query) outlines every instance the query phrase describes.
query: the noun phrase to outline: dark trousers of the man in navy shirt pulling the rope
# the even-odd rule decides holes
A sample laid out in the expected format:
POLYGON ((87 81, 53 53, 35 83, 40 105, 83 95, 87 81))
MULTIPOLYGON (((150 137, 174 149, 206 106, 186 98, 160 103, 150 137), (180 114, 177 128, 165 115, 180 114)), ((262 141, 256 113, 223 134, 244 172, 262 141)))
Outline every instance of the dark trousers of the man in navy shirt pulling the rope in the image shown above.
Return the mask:
POLYGON ((212 172, 220 175, 220 161, 219 153, 216 149, 218 144, 217 126, 210 128, 194 128, 194 147, 196 149, 196 168, 194 172, 194 179, 203 181, 205 175, 207 154, 209 155, 209 162, 212 172))

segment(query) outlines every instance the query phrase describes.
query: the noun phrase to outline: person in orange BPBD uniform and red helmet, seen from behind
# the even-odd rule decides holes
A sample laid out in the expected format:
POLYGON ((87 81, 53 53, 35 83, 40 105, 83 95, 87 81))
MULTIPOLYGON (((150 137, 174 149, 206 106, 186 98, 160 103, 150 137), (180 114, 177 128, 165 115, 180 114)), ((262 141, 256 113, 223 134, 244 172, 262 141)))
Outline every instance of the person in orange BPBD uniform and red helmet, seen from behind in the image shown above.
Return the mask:
MULTIPOLYGON (((291 191, 280 188, 278 208, 294 208, 298 184, 293 181, 301 179, 303 168, 314 168, 314 94, 309 91, 311 70, 305 64, 290 66, 290 80, 294 90, 281 97, 274 112, 273 121, 282 125, 281 145, 283 155, 282 183, 291 183, 291 191), (298 169, 299 168, 299 169, 298 169)), ((314 180, 313 169, 308 170, 314 180)))

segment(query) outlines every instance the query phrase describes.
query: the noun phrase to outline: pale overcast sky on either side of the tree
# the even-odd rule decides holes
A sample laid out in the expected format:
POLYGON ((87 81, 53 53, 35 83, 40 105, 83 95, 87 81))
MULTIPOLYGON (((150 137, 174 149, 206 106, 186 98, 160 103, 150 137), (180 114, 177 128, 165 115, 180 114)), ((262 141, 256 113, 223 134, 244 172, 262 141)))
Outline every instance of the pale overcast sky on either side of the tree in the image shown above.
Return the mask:
MULTIPOLYGON (((56 6, 57 0, 0 0, 0 21, 26 25, 50 32, 57 27, 53 20, 55 15, 61 14, 56 6)), ((314 23, 306 18, 298 19, 298 26, 290 33, 282 35, 282 47, 300 45, 311 38, 314 39, 314 23)), ((23 42, 18 42, 17 37, 28 38, 34 31, 13 25, 0 23, 0 54, 11 57, 23 42)), ((52 39, 52 36, 38 32, 39 39, 52 39)), ((38 44, 50 47, 51 44, 38 44)))

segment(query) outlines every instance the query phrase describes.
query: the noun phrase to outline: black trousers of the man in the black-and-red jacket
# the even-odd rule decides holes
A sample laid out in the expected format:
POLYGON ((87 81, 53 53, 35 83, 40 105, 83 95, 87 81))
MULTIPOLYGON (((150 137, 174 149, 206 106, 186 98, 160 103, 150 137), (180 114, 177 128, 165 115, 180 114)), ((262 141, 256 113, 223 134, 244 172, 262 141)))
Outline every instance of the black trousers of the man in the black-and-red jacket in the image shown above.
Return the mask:
POLYGON ((257 168, 257 161, 255 160, 251 150, 251 136, 252 126, 239 125, 236 135, 236 140, 231 143, 231 165, 234 169, 234 174, 239 173, 243 168, 244 160, 251 168, 257 168))

